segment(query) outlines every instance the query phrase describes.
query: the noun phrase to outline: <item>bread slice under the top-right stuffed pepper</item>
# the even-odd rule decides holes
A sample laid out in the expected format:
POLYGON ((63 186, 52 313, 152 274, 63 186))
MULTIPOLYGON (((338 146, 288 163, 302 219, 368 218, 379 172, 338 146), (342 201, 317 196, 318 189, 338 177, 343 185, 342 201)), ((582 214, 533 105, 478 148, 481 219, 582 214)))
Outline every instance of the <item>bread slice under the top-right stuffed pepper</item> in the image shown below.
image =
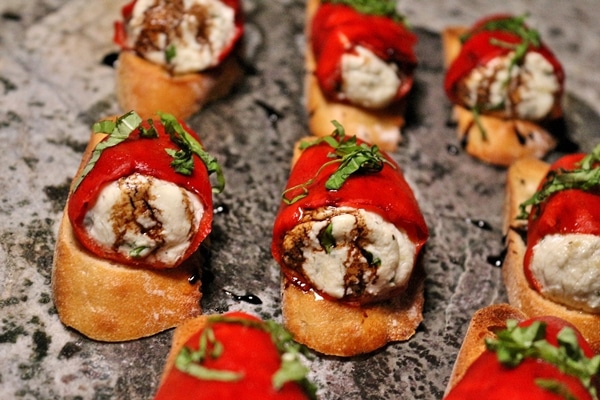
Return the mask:
MULTIPOLYGON (((465 27, 448 27, 442 32, 444 64, 446 68, 460 53, 460 35, 465 27)), ((560 118, 560 107, 553 110, 552 118, 560 118)), ((539 123, 526 120, 502 119, 480 115, 454 105, 452 118, 457 123, 457 137, 471 156, 492 165, 508 167, 515 160, 543 158, 558 145, 557 138, 539 123)))

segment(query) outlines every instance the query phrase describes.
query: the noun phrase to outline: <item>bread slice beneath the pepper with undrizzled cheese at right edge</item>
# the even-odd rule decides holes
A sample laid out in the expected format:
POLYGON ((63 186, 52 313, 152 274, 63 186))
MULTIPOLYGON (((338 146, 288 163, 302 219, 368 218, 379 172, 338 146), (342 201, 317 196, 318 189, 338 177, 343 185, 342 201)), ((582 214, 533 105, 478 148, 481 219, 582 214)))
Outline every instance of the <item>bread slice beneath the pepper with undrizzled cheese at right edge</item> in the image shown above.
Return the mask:
POLYGON ((507 174, 505 199, 505 234, 507 252, 502 266, 502 278, 509 303, 528 317, 553 315, 560 317, 581 332, 596 353, 600 352, 600 315, 571 309, 555 303, 532 289, 525 277, 523 258, 526 242, 520 231, 526 221, 517 220, 519 204, 530 198, 550 165, 540 160, 523 159, 515 162, 507 174))

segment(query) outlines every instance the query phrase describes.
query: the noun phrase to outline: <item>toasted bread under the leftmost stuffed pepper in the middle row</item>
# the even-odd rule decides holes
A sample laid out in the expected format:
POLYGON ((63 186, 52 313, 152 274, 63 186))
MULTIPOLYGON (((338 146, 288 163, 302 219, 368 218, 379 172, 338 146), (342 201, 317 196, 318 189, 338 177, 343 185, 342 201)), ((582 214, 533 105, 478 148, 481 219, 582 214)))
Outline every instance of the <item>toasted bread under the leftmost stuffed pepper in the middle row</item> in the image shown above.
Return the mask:
MULTIPOLYGON (((78 174, 105 136, 92 135, 78 174)), ((198 253, 164 270, 98 258, 74 236, 65 207, 52 265, 54 304, 63 324, 94 340, 120 342, 151 336, 201 313, 200 265, 198 253)))

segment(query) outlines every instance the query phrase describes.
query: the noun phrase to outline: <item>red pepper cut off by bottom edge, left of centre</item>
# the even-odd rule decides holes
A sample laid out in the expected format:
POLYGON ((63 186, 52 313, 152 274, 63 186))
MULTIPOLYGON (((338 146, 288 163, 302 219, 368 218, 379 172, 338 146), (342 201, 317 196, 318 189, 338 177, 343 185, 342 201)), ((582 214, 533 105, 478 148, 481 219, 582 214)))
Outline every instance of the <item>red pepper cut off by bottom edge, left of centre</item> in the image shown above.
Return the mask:
MULTIPOLYGON (((241 312, 227 313, 226 319, 262 322, 241 312)), ((209 317, 210 320, 210 317, 209 317)), ((273 375, 281 367, 281 354, 269 332, 236 322, 209 322, 214 339, 222 345, 222 353, 210 357, 209 351, 201 366, 219 372, 240 374, 232 380, 202 379, 173 366, 161 384, 155 400, 220 399, 237 400, 306 400, 311 398, 297 382, 286 382, 279 390, 273 386, 273 375)), ((205 328, 206 329, 206 328, 205 328)), ((185 346, 199 348, 203 331, 192 335, 185 346)), ((210 344, 208 345, 210 346, 210 344)), ((210 348, 207 346, 207 350, 210 348)))

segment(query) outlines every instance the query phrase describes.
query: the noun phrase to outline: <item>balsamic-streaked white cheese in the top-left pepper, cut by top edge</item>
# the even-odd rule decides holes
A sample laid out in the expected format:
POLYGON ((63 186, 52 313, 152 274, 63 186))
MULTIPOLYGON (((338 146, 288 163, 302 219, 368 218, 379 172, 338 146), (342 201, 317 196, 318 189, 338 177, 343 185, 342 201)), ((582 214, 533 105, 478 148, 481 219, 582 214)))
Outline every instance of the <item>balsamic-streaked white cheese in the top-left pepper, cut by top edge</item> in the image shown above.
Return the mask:
POLYGON ((173 73, 216 66, 234 40, 235 13, 219 0, 138 0, 129 45, 173 73))

